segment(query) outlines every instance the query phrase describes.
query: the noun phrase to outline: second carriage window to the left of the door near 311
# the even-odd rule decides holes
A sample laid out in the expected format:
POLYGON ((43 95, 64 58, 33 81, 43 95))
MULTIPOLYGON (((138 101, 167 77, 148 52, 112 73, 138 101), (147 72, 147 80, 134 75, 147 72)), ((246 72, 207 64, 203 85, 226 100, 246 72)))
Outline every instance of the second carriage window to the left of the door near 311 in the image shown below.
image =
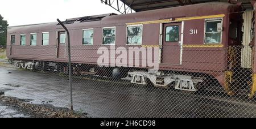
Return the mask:
POLYGON ((103 29, 103 45, 115 44, 115 28, 103 29))

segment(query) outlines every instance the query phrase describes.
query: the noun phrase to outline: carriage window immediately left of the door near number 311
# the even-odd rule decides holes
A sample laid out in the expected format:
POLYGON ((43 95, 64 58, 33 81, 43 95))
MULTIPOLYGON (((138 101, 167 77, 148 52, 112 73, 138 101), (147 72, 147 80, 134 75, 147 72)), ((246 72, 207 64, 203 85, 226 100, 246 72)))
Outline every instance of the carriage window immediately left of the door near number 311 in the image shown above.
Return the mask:
POLYGON ((127 27, 127 44, 128 45, 142 44, 142 25, 127 27))

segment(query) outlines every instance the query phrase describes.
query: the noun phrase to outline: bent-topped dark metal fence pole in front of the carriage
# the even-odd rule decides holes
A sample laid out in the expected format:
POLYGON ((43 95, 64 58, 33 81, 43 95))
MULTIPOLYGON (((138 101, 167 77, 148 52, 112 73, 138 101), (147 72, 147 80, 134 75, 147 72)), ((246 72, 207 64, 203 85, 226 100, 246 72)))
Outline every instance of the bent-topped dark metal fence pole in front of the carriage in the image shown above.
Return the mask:
POLYGON ((68 35, 68 67, 69 67, 69 87, 70 87, 70 101, 71 101, 71 110, 73 111, 73 88, 72 88, 72 68, 71 68, 71 51, 70 51, 70 37, 69 37, 69 31, 67 27, 59 20, 57 21, 60 23, 60 25, 65 29, 68 35))

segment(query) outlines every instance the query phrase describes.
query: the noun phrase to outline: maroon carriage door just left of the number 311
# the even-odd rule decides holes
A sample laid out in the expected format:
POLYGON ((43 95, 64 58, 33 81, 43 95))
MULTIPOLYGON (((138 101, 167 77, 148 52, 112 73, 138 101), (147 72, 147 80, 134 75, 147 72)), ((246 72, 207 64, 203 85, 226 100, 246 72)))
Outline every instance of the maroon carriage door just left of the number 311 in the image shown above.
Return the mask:
POLYGON ((163 24, 162 64, 182 65, 183 23, 163 24))

